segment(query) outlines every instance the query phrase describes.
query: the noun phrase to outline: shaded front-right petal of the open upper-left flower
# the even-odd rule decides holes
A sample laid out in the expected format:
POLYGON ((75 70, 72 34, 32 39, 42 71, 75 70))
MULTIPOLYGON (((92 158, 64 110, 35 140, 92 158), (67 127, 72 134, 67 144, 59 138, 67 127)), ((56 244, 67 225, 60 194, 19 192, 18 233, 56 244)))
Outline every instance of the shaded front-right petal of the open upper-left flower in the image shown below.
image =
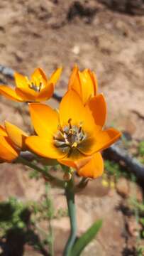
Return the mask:
POLYGON ((47 85, 45 85, 45 87, 42 90, 40 90, 36 100, 38 102, 48 100, 50 99, 50 97, 52 97, 53 92, 54 92, 54 85, 52 83, 51 84, 48 83, 47 85))

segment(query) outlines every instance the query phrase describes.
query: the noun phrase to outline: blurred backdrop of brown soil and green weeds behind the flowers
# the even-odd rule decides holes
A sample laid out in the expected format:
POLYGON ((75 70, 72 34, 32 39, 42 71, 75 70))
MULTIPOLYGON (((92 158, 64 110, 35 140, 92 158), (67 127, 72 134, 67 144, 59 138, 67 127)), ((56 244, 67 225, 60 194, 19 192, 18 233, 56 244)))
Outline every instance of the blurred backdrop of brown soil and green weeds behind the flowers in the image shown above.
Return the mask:
MULTIPOLYGON (((144 1, 5 0, 0 17, 0 82, 13 84, 7 67, 24 75, 40 67, 50 76, 62 65, 55 90, 63 95, 75 63, 94 70, 108 105, 106 126, 123 132, 123 147, 143 164, 144 1)), ((56 100, 48 103, 57 107, 56 100)), ((0 121, 5 119, 31 128, 26 105, 0 97, 0 121)), ((120 164, 106 159, 104 176, 77 195, 78 235, 94 220, 104 220, 83 256, 143 255, 144 179, 139 185, 120 164)), ((0 169, 0 255, 48 255, 45 218, 54 227, 55 255, 62 255, 69 232, 62 191, 45 188, 42 178, 20 165, 1 164, 0 169)))

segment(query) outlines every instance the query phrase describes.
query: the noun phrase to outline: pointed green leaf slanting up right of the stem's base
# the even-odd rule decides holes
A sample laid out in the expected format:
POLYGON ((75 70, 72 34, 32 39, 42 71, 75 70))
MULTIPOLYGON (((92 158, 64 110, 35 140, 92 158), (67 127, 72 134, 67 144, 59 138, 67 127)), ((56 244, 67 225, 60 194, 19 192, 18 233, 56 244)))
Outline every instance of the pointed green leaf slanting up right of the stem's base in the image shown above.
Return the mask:
POLYGON ((92 226, 75 242, 70 256, 79 256, 89 242, 94 239, 95 235, 99 232, 102 225, 102 220, 97 220, 92 226))

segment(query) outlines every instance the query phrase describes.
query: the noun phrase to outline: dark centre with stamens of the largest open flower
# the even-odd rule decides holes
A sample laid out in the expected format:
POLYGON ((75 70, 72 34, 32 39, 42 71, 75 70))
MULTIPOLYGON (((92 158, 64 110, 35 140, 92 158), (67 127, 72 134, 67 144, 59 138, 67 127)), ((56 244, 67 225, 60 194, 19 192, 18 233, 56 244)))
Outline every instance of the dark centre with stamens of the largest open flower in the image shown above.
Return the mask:
POLYGON ((63 128, 60 127, 53 137, 54 145, 62 151, 66 149, 69 154, 72 153, 72 149, 76 149, 87 138, 87 134, 82 129, 82 124, 72 125, 71 122, 72 119, 69 119, 68 124, 63 128))

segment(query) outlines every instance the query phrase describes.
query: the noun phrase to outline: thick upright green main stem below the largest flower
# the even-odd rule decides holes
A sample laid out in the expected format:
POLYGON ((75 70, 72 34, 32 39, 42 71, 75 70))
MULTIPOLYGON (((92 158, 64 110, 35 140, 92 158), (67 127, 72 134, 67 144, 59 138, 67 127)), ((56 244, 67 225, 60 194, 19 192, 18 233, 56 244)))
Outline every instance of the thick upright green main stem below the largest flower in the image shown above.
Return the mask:
POLYGON ((70 251, 72 249, 72 246, 74 245, 77 235, 76 208, 74 203, 74 184, 72 178, 70 181, 67 182, 67 186, 65 188, 65 195, 67 198, 68 213, 70 216, 70 236, 67 240, 67 244, 65 245, 63 256, 68 256, 70 255, 70 251))

